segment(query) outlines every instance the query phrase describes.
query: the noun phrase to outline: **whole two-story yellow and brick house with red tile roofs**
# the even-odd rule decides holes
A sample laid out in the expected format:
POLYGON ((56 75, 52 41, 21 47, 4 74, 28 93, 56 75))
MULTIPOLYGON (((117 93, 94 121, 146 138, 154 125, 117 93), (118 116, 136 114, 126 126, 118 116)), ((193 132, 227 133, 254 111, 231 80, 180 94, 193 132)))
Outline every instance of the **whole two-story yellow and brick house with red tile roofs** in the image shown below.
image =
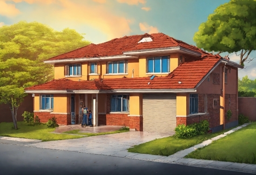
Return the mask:
POLYGON ((25 89, 41 122, 79 124, 86 105, 94 126, 168 132, 203 119, 215 130, 238 124, 243 67, 166 34, 124 36, 44 62, 54 65, 54 80, 25 89))

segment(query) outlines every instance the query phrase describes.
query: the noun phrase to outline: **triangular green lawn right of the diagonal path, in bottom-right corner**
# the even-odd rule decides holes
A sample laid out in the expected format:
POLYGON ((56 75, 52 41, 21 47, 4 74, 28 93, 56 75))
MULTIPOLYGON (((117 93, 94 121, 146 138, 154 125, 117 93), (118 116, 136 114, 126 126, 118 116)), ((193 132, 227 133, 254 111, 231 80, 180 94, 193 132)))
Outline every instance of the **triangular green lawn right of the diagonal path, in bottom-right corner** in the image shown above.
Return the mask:
POLYGON ((256 164, 256 122, 193 151, 186 158, 256 164))

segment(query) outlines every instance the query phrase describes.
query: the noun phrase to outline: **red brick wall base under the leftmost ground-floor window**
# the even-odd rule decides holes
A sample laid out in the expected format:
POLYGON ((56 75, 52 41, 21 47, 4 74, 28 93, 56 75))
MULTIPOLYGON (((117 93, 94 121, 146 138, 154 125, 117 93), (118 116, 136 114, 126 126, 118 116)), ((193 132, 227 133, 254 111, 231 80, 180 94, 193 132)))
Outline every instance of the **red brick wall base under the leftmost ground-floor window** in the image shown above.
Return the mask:
POLYGON ((50 114, 49 112, 34 112, 34 117, 38 116, 41 123, 46 123, 51 117, 55 117, 57 124, 70 125, 71 115, 70 114, 50 114))

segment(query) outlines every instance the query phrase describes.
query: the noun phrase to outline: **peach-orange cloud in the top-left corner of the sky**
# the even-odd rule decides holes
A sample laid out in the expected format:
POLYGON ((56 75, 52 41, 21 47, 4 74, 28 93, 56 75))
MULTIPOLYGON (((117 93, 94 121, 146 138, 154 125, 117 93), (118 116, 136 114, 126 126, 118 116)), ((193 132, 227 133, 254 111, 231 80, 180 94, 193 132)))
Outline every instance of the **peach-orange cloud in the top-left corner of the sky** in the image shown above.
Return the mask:
POLYGON ((12 17, 20 13, 15 4, 7 4, 6 0, 0 0, 0 15, 12 17))

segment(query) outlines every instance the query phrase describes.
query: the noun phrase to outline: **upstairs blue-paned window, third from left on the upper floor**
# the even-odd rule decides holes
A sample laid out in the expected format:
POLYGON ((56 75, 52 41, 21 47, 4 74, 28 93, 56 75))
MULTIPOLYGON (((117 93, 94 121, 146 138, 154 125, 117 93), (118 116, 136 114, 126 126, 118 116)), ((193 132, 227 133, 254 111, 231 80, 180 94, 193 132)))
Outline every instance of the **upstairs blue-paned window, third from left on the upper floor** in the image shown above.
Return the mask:
POLYGON ((108 62, 108 74, 125 74, 128 73, 127 61, 108 62))

